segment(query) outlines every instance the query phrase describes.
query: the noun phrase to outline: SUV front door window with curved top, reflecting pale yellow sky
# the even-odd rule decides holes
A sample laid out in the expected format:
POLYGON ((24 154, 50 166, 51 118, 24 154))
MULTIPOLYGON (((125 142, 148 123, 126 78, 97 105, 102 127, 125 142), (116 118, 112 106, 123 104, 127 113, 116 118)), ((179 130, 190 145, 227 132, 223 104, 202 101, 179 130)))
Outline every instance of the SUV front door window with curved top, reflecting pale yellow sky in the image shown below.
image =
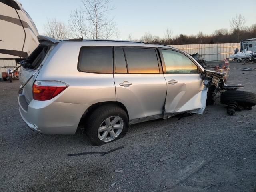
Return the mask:
POLYGON ((172 51, 162 50, 166 73, 198 73, 197 66, 184 54, 172 51))

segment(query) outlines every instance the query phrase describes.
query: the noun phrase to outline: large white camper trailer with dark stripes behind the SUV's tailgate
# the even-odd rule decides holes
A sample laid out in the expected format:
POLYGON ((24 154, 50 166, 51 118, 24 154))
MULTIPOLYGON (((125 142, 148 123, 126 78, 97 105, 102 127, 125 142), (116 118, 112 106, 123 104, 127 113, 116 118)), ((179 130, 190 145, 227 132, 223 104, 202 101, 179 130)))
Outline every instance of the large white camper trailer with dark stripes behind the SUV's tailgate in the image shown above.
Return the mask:
POLYGON ((0 0, 0 60, 27 58, 38 46, 38 30, 16 0, 0 0))

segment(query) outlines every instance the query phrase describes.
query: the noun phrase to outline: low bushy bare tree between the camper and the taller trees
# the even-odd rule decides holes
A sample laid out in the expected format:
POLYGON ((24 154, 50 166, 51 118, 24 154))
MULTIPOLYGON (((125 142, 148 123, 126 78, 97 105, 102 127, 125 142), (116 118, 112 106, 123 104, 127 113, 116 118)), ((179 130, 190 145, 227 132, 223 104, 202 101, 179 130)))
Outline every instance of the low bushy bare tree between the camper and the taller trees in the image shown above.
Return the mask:
POLYGON ((44 33, 46 36, 56 39, 70 38, 70 30, 66 24, 54 19, 47 19, 44 24, 44 33))

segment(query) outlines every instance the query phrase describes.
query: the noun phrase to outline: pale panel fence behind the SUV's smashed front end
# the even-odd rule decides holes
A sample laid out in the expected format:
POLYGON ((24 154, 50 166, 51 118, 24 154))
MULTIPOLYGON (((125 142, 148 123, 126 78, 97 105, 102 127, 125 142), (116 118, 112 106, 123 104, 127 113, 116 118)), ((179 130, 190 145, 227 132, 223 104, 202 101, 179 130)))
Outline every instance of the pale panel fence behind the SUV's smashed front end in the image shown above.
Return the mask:
POLYGON ((234 54, 234 50, 240 50, 240 43, 215 43, 215 44, 192 44, 192 45, 171 45, 172 47, 184 50, 188 54, 198 53, 206 62, 224 60, 234 54))

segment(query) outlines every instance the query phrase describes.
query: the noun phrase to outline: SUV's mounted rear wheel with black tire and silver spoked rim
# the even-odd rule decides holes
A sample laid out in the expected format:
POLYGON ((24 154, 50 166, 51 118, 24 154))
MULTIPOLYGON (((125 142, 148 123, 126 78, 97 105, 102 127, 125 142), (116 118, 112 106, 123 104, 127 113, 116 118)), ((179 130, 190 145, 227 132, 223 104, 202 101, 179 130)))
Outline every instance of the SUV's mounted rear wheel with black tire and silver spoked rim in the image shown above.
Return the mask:
POLYGON ((93 145, 102 145, 122 138, 128 131, 128 127, 129 124, 126 112, 122 108, 114 104, 106 104, 96 108, 96 110, 94 110, 92 114, 90 114, 85 124, 86 135, 88 136, 90 142, 93 145), (114 120, 114 118, 120 118, 120 121, 116 122, 117 124, 113 125, 115 127, 121 127, 121 125, 123 125, 122 129, 112 129, 113 125, 110 123, 114 120), (108 124, 106 123, 107 119, 110 120, 108 124), (99 132, 100 127, 107 130, 99 132), (115 138, 112 138, 113 132, 117 135, 115 138), (106 135, 105 139, 104 135, 106 135), (102 137, 102 139, 100 139, 100 137, 102 137))

